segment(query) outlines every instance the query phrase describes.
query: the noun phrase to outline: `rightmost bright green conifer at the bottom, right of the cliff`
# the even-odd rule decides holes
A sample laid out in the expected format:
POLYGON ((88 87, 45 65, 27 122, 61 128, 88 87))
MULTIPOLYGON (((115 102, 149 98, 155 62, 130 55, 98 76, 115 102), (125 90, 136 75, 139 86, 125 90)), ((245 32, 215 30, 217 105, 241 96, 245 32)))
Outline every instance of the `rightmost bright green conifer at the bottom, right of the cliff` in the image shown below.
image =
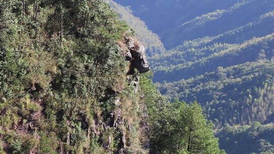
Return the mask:
POLYGON ((174 135, 178 153, 225 153, 219 149, 212 124, 205 119, 197 102, 190 105, 178 102, 177 107, 177 129, 174 135))

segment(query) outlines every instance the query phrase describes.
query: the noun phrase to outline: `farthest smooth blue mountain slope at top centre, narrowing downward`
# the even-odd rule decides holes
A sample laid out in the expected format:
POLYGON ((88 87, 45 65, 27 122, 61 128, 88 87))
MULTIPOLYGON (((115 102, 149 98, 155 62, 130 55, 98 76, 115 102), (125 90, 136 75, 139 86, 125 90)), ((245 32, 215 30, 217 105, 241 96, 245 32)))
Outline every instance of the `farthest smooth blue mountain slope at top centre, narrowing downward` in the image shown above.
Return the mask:
MULTIPOLYGON (((170 49, 175 46, 170 46, 167 38, 170 32, 178 28, 179 25, 202 14, 214 12, 217 9, 228 9, 237 0, 225 2, 217 0, 116 0, 115 2, 123 6, 130 6, 133 14, 145 21, 148 27, 161 37, 165 47, 170 49)), ((177 33, 177 35, 181 35, 181 33, 177 33)), ((175 40, 177 40, 177 37, 175 40)))

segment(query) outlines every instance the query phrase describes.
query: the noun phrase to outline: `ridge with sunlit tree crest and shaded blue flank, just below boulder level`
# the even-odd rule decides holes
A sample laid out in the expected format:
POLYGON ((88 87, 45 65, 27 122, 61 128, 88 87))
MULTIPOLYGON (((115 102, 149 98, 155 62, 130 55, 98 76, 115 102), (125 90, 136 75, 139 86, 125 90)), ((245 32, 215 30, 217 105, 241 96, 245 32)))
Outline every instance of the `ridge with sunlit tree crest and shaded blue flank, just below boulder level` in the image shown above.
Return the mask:
MULTIPOLYGON (((175 65, 159 66, 156 68, 154 81, 178 81, 180 79, 187 79, 205 72, 211 72, 217 67, 228 67, 242 64, 245 62, 256 61, 259 59, 260 53, 265 54, 265 58, 274 56, 274 40, 273 34, 264 37, 253 38, 242 44, 216 44, 210 47, 204 47, 193 56, 204 54, 210 51, 211 54, 205 57, 193 57, 192 61, 185 61, 175 65), (208 49, 205 49, 208 48, 208 49), (204 50, 205 49, 205 50, 204 50)), ((195 52, 195 50, 190 50, 195 52)), ((190 54, 188 54, 189 56, 190 54)), ((176 58, 179 56, 176 55, 176 58)), ((188 58, 191 58, 189 56, 188 58)), ((181 60, 181 59, 180 59, 181 60)))

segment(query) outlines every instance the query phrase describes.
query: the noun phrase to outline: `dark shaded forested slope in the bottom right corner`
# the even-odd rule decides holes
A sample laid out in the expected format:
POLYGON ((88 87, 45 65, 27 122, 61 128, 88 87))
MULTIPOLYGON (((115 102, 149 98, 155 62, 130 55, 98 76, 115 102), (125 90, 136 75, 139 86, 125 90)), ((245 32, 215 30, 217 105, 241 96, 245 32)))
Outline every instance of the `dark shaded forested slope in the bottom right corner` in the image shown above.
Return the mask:
POLYGON ((274 125, 254 123, 251 126, 230 127, 225 125, 217 133, 222 148, 229 149, 227 153, 262 153, 274 151, 274 125))

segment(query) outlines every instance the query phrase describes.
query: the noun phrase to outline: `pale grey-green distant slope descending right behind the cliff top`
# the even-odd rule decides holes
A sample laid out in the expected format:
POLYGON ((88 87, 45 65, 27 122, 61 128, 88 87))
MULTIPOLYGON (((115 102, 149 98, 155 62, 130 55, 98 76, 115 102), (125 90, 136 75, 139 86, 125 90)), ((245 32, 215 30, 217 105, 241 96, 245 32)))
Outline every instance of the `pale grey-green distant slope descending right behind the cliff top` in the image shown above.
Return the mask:
POLYGON ((123 7, 112 0, 105 0, 119 15, 120 18, 134 30, 136 37, 147 48, 148 55, 162 54, 165 48, 157 34, 148 29, 146 23, 132 15, 130 8, 123 7))

